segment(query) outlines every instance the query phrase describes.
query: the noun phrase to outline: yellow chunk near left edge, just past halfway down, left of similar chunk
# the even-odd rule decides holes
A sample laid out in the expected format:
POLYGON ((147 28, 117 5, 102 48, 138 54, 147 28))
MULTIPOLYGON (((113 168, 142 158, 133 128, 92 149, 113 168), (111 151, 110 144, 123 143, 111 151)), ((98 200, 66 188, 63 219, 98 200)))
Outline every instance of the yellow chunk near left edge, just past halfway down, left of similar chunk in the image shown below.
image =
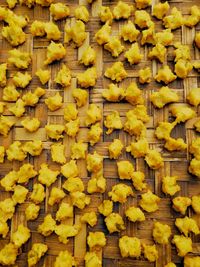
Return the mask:
POLYGON ((6 150, 7 159, 10 161, 23 161, 27 157, 27 153, 23 150, 23 145, 20 141, 14 141, 6 150))

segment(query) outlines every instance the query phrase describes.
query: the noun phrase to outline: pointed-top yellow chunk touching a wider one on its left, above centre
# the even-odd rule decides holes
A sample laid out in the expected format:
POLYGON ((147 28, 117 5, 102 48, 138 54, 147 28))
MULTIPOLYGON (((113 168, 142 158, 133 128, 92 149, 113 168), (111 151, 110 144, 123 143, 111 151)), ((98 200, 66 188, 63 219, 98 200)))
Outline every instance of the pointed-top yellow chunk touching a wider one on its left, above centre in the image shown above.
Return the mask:
POLYGON ((142 90, 138 88, 135 82, 130 83, 130 85, 126 88, 125 99, 132 105, 144 104, 142 90))

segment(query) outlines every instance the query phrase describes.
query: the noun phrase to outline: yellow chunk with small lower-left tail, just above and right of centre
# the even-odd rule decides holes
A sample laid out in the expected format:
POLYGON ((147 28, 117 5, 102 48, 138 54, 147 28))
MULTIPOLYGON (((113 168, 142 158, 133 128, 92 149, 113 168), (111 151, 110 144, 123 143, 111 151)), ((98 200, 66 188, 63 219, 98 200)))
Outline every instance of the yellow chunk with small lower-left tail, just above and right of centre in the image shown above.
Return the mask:
POLYGON ((109 115, 106 116, 105 120, 104 120, 104 125, 105 127, 108 128, 108 130, 106 131, 106 134, 111 134, 113 132, 113 130, 117 129, 120 130, 122 129, 122 121, 121 118, 119 116, 118 111, 112 111, 112 113, 110 113, 109 115))

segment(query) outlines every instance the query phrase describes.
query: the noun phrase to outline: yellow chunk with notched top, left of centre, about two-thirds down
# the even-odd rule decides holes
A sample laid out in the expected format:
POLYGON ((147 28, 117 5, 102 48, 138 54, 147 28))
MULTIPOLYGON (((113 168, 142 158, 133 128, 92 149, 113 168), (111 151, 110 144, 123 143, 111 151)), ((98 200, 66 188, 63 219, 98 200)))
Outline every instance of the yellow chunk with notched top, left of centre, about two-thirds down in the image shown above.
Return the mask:
POLYGON ((53 184, 56 181, 59 173, 60 173, 59 171, 53 171, 49 169, 46 163, 42 163, 40 166, 40 170, 39 170, 38 181, 41 184, 49 187, 51 184, 53 184))

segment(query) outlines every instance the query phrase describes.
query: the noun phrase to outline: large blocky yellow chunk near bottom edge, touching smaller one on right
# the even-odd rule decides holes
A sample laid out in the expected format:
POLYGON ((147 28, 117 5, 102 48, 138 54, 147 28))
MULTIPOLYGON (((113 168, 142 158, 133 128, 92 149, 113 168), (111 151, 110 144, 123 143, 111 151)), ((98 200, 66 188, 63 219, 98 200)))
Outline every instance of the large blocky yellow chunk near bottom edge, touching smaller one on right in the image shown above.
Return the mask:
POLYGON ((119 239, 119 249, 123 258, 139 258, 141 255, 141 242, 137 237, 123 236, 119 239))

